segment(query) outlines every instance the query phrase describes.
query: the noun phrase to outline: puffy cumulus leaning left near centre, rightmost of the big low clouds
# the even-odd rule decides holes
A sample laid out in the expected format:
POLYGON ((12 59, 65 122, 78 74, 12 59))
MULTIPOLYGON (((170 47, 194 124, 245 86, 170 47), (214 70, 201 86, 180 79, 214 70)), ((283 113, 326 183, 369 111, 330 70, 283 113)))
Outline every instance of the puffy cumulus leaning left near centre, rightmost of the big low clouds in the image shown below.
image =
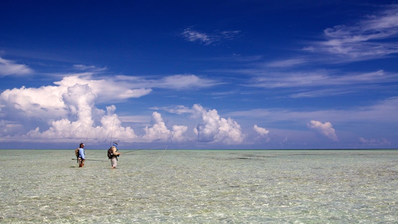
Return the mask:
POLYGON ((223 118, 216 110, 206 111, 202 106, 193 106, 194 112, 201 116, 203 123, 194 129, 198 140, 204 142, 223 142, 238 144, 244 140, 240 125, 231 118, 223 118))

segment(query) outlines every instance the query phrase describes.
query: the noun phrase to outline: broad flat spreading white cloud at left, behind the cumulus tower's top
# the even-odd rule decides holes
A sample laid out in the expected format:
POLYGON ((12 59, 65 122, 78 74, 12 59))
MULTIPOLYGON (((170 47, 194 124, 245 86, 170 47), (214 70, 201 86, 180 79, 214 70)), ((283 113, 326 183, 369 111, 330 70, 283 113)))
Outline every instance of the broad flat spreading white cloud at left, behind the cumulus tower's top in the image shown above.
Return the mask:
POLYGON ((88 79, 90 75, 84 73, 67 76, 54 82, 56 86, 5 90, 0 94, 0 106, 3 107, 3 111, 7 110, 10 113, 51 119, 63 117, 68 111, 77 114, 77 104, 87 103, 87 98, 91 98, 91 105, 86 107, 94 107, 94 99, 97 103, 113 102, 139 98, 152 91, 145 88, 130 89, 128 85, 117 85, 116 81, 111 79, 88 79))

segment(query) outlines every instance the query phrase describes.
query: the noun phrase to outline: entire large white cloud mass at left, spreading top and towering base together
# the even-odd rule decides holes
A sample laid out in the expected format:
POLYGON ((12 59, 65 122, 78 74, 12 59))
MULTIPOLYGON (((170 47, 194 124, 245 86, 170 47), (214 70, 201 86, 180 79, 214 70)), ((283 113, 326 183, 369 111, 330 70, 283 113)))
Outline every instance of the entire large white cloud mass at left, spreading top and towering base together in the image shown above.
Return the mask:
MULTIPOLYGON (((114 114, 114 106, 104 112, 96 108, 95 103, 141 97, 151 90, 129 89, 127 85, 112 88, 113 81, 87 79, 90 75, 64 77, 55 82, 56 86, 5 90, 0 94, 1 116, 7 117, 8 122, 18 122, 21 117, 35 122, 37 127, 26 130, 23 137, 36 141, 73 141, 89 137, 90 132, 91 136, 100 139, 108 139, 113 133, 113 136, 126 141, 136 140, 134 130, 121 125, 117 114, 114 114)), ((21 132, 20 128, 14 133, 9 133, 9 130, 9 137, 16 137, 21 132)), ((2 132, 1 135, 5 134, 2 132)))

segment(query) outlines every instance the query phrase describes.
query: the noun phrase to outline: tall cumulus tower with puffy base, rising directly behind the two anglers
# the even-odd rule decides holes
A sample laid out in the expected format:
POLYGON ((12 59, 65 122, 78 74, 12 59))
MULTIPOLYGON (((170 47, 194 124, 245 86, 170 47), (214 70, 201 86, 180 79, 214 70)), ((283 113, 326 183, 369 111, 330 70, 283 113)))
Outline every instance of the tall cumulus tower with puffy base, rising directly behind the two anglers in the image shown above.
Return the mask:
MULTIPOLYGON (((99 125, 94 124, 93 107, 95 97, 91 94, 88 85, 78 85, 68 88, 68 93, 63 97, 68 105, 70 114, 75 114, 75 119, 62 118, 53 120, 47 130, 40 131, 37 127, 24 135, 36 141, 74 141, 78 138, 91 138, 94 136, 99 142, 104 142, 113 136, 113 139, 123 139, 124 141, 134 141, 137 135, 130 127, 121 126, 115 106, 106 108, 106 114, 99 117, 99 125), (86 93, 83 94, 82 93, 86 93), (50 140, 49 140, 50 139, 50 140)), ((98 109, 97 109, 98 110, 98 109)))

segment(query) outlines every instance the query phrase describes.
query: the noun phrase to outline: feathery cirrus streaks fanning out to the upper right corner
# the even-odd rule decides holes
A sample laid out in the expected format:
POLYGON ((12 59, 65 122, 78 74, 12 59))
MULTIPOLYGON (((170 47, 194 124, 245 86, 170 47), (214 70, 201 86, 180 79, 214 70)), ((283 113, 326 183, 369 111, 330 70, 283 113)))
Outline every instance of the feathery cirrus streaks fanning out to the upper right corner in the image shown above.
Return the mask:
POLYGON ((346 61, 368 60, 398 53, 397 21, 398 4, 392 4, 352 25, 326 28, 324 40, 314 42, 304 50, 344 57, 346 61))

